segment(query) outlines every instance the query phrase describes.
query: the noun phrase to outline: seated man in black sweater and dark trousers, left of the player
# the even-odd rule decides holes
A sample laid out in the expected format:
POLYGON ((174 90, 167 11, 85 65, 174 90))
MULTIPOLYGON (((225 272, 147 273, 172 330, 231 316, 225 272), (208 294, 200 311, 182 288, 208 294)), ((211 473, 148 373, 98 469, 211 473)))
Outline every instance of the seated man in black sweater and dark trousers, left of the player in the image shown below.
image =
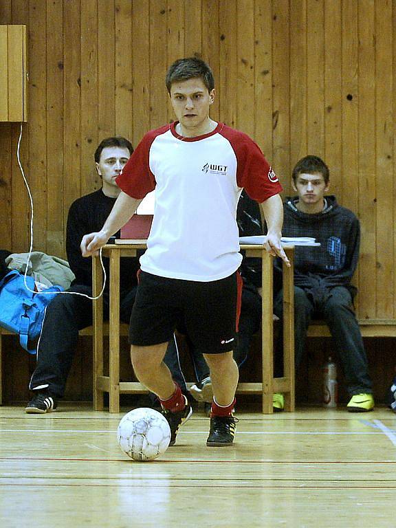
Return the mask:
MULTIPOLYGON (((91 259, 83 259, 80 241, 88 231, 99 229, 113 208, 120 189, 115 184, 133 146, 124 137, 108 137, 95 152, 95 164, 102 188, 72 203, 67 217, 66 252, 76 276, 69 292, 92 296, 91 259)), ((120 319, 128 322, 137 286, 137 259, 122 259, 120 269, 120 319)), ((108 272, 108 263, 105 263, 108 272)), ((109 312, 108 285, 103 294, 104 314, 109 312)), ((36 369, 30 380, 33 397, 25 412, 50 412, 65 393, 74 357, 78 331, 92 325, 92 300, 81 295, 59 294, 48 305, 37 347, 36 369)))

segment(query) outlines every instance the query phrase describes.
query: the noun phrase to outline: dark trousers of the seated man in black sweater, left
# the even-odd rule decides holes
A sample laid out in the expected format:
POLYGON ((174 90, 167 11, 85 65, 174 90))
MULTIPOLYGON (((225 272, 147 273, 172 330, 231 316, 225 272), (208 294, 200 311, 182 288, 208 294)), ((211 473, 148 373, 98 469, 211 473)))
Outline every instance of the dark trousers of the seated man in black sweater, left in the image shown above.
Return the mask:
MULTIPOLYGON (((74 285, 69 292, 92 295, 86 285, 74 285)), ((136 287, 120 294, 120 320, 129 323, 135 301, 136 287)), ((36 369, 30 380, 30 389, 48 388, 50 395, 61 398, 69 375, 78 331, 92 325, 94 301, 77 295, 60 294, 47 306, 43 329, 37 347, 36 369)), ((109 314, 109 296, 103 296, 104 317, 109 314)))

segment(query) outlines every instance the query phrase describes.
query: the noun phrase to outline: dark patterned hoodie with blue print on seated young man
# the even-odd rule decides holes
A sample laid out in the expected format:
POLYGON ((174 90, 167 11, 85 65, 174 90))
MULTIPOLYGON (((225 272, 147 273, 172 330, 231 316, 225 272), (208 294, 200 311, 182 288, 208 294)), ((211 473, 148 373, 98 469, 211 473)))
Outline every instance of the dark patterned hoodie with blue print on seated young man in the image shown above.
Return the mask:
MULTIPOLYGON (((312 236, 320 242, 320 248, 296 246, 294 284, 313 290, 345 286, 355 295, 351 279, 358 265, 360 223, 352 211, 338 205, 336 197, 325 199, 325 209, 316 214, 300 212, 298 197, 284 203, 283 236, 312 236)), ((278 259, 276 270, 281 271, 278 259)))

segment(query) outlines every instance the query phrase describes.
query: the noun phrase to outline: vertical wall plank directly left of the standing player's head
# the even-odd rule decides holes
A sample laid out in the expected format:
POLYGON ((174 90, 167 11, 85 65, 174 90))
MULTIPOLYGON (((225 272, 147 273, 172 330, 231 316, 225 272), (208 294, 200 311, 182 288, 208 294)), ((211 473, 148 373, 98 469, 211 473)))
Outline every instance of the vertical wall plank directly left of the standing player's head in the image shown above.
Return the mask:
POLYGON ((150 128, 162 126, 168 120, 165 76, 168 69, 166 54, 166 0, 150 1, 150 128))

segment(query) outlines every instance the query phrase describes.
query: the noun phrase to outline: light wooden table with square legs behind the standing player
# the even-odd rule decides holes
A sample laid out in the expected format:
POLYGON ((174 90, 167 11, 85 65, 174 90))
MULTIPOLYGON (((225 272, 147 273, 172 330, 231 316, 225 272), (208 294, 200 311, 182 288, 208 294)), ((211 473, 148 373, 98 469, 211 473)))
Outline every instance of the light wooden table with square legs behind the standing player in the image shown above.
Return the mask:
MULTIPOLYGON (((103 301, 94 302, 94 409, 103 409, 103 395, 109 393, 109 412, 120 412, 120 394, 145 393, 146 388, 139 382, 120 382, 120 257, 136 256, 145 249, 144 243, 108 244, 102 249, 102 255, 109 257, 110 270, 109 296, 109 375, 103 369, 103 301)), ((294 246, 283 248, 291 267, 283 265, 283 377, 274 378, 274 318, 272 310, 273 266, 272 256, 262 245, 241 245, 247 256, 260 257, 263 271, 262 284, 262 371, 263 383, 239 383, 237 393, 261 394, 263 413, 271 414, 273 393, 285 395, 285 410, 294 410, 294 246)), ((97 296, 102 289, 102 267, 100 259, 92 259, 93 291, 97 296)), ((191 385, 191 384, 190 384, 191 385)))

